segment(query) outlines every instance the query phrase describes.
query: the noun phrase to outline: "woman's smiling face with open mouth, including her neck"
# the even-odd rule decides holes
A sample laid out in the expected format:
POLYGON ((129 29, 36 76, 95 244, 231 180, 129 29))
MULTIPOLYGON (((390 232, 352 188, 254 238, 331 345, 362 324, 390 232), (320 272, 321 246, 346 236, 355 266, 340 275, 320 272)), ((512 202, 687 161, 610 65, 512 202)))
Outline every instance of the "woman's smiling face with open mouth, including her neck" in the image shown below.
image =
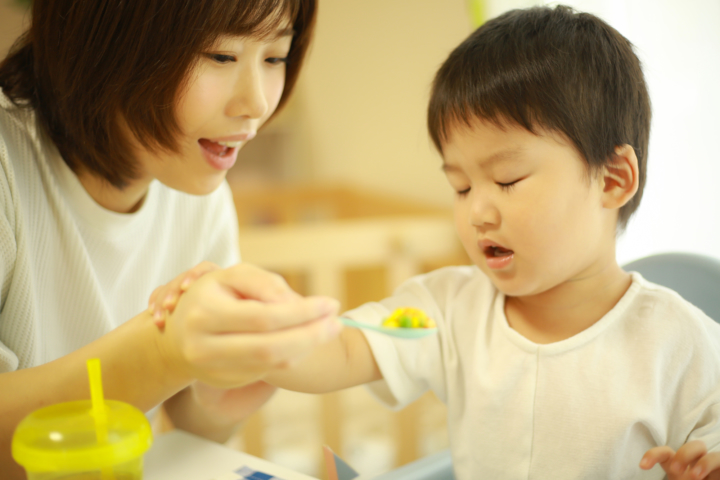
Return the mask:
POLYGON ((176 106, 177 153, 138 152, 143 177, 194 195, 215 190, 277 108, 292 31, 222 37, 201 56, 176 106))

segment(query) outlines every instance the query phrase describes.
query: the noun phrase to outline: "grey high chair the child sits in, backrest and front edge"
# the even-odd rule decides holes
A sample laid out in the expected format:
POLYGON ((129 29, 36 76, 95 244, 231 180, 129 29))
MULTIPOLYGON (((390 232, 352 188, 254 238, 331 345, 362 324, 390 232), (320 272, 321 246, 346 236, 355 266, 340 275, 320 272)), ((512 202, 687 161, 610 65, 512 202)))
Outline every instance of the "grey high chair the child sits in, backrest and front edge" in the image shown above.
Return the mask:
MULTIPOLYGON (((632 261, 623 269, 672 288, 720 322, 720 260, 692 253, 661 253, 632 261)), ((421 458, 375 480, 454 480, 449 450, 421 458)))

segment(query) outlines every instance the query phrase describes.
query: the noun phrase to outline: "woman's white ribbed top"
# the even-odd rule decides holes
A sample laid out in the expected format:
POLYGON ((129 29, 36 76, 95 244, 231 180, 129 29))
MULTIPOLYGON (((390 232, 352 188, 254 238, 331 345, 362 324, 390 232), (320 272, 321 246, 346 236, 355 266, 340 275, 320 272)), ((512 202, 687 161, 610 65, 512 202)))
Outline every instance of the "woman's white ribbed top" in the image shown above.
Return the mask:
POLYGON ((0 373, 96 340, 204 260, 239 261, 226 183, 192 196, 154 181, 137 212, 106 210, 1 91, 0 168, 0 373))

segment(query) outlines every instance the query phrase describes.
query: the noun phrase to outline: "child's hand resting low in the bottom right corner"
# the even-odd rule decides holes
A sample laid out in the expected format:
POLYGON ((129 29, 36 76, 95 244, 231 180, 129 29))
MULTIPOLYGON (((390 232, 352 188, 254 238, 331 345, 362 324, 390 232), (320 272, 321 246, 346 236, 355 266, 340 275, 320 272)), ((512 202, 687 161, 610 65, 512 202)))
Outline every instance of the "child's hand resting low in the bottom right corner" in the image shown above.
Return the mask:
POLYGON ((675 452, 670 447, 651 448, 640 461, 649 470, 656 463, 667 473, 668 480, 720 480, 720 452, 707 452, 700 440, 688 442, 675 452))

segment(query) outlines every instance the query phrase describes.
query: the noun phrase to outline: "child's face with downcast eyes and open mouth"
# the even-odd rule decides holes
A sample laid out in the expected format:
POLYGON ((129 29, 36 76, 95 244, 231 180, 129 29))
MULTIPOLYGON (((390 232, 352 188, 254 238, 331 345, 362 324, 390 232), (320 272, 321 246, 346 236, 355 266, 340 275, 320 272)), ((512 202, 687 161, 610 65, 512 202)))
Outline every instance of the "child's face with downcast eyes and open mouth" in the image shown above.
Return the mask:
POLYGON ((602 175, 561 135, 477 121, 444 145, 455 223, 473 262, 508 296, 527 296, 614 259, 616 211, 602 175))

